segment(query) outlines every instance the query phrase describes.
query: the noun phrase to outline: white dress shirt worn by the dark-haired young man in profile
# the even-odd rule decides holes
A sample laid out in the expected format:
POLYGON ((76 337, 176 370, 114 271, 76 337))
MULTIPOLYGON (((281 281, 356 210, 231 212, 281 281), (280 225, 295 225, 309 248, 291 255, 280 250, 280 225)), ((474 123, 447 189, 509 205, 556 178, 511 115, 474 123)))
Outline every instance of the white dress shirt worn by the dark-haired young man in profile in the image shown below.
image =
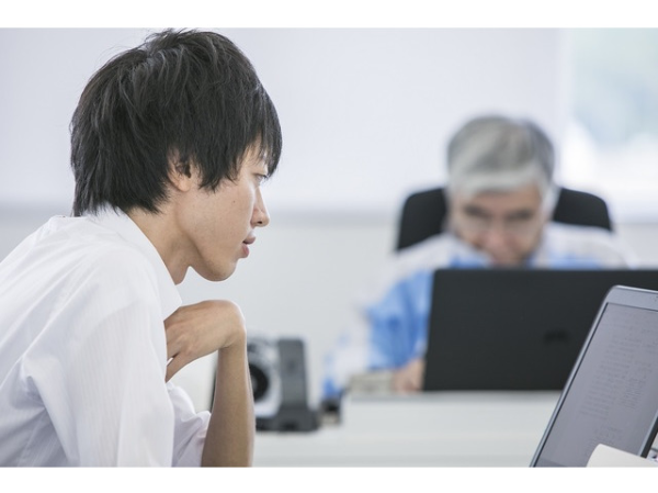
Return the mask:
POLYGON ((21 243, 0 264, 0 466, 198 466, 209 413, 164 382, 180 305, 123 213, 21 243))

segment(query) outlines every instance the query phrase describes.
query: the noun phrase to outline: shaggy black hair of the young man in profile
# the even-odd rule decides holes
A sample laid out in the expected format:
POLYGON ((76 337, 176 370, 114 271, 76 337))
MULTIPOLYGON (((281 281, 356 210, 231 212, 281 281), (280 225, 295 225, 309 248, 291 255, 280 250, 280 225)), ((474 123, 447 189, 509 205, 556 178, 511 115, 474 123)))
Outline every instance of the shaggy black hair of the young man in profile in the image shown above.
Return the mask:
POLYGON ((282 136, 274 104, 245 54, 214 32, 166 30, 107 61, 71 120, 73 215, 109 204, 157 213, 171 158, 215 190, 257 146, 268 173, 282 136))

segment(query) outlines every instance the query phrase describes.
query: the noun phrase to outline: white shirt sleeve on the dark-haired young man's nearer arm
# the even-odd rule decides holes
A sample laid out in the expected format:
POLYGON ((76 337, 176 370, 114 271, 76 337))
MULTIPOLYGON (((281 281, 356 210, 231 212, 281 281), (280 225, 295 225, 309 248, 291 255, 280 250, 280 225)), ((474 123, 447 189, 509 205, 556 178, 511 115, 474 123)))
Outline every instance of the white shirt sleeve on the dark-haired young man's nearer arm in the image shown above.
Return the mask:
POLYGON ((171 466, 157 284, 139 254, 87 259, 31 350, 33 385, 70 463, 171 466))

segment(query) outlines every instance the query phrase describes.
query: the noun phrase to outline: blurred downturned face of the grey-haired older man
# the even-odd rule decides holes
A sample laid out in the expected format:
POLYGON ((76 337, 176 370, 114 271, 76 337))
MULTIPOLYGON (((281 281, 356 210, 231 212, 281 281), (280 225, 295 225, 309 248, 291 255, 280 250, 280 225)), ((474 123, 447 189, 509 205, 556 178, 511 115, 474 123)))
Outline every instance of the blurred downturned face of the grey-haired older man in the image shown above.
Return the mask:
POLYGON ((518 266, 537 247, 546 217, 534 184, 509 192, 453 197, 450 204, 453 231, 486 254, 496 266, 518 266))

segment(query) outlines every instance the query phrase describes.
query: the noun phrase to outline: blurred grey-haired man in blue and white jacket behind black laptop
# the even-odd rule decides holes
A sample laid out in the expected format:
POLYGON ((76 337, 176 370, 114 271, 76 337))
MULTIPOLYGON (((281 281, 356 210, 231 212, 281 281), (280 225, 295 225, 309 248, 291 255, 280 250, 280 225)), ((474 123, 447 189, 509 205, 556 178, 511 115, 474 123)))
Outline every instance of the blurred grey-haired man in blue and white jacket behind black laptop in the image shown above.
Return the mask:
POLYGON ((526 120, 490 115, 467 122, 447 148, 449 227, 405 248, 358 300, 352 324, 328 357, 324 396, 340 397, 351 377, 389 370, 392 388, 422 386, 438 268, 623 268, 633 261, 609 232, 549 222, 555 157, 526 120))

